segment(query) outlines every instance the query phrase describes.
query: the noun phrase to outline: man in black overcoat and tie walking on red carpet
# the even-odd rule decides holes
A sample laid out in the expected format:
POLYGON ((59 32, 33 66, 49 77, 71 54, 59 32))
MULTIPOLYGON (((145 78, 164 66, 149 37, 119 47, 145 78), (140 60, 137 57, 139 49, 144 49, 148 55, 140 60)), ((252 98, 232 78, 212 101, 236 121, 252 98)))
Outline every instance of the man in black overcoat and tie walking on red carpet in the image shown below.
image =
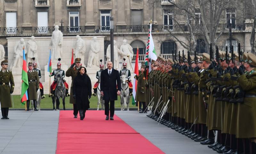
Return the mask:
POLYGON ((100 91, 100 94, 103 96, 103 100, 105 100, 105 115, 107 116, 106 120, 109 119, 109 101, 110 120, 114 120, 115 100, 117 100, 117 95, 120 95, 121 79, 119 72, 112 68, 113 63, 111 61, 108 61, 107 67, 107 69, 101 72, 100 89, 102 91, 100 91))

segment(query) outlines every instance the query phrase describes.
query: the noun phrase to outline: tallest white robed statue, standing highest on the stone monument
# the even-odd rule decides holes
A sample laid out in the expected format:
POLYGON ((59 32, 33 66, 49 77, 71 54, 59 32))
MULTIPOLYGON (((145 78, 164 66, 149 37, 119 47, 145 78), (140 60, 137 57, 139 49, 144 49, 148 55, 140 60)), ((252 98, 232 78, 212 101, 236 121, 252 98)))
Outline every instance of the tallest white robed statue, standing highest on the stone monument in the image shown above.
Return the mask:
POLYGON ((52 46, 52 59, 58 59, 61 58, 62 54, 63 34, 59 30, 58 25, 56 25, 54 29, 55 30, 52 32, 50 46, 52 46))

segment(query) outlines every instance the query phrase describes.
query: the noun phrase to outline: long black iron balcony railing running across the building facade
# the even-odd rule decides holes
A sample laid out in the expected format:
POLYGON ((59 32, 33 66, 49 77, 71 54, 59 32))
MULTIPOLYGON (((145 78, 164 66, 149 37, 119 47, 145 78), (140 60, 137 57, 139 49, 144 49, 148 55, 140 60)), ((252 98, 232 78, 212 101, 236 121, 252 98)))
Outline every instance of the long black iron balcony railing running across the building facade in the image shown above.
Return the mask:
MULTIPOLYGON (((192 25, 193 30, 198 30, 200 33, 200 27, 192 25)), ((148 33, 149 25, 135 25, 135 26, 114 26, 114 33, 148 33)), ((209 27, 207 27, 209 28, 209 27)), ((87 33, 95 34, 108 34, 108 26, 78 26, 78 27, 60 27, 64 35, 85 35, 87 33)), ((152 27, 152 32, 154 33, 168 33, 171 30, 176 33, 189 33, 188 25, 154 25, 152 27)), ((245 24, 236 24, 235 30, 245 30, 245 24)), ((0 27, 0 35, 51 35, 54 31, 54 27, 0 27)), ((219 24, 217 31, 227 31, 228 28, 226 24, 219 24)))

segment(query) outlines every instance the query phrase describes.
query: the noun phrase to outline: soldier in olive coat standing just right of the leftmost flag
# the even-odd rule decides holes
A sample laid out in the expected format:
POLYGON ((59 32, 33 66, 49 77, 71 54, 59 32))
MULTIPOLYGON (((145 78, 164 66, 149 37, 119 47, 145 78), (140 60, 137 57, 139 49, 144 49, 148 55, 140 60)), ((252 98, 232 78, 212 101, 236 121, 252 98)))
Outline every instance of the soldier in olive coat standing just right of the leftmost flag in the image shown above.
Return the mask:
POLYGON ((37 90, 39 89, 39 77, 38 73, 33 70, 33 63, 28 63, 28 100, 27 100, 27 110, 29 111, 29 102, 33 100, 35 111, 38 111, 36 106, 37 90))

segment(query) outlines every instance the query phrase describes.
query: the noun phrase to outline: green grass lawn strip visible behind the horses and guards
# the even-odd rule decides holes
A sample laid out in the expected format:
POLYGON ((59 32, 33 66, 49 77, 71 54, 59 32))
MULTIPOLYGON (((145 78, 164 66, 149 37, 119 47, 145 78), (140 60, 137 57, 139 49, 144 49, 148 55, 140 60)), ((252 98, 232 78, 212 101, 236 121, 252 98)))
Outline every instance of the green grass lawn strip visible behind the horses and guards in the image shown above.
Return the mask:
MULTIPOLYGON (((48 94, 44 94, 46 98, 41 99, 41 108, 42 109, 52 109, 52 98, 48 97, 48 94)), ((121 104, 120 104, 120 96, 117 97, 118 100, 115 101, 115 107, 116 108, 120 108, 121 104)), ((90 107, 91 108, 97 108, 97 103, 98 103, 98 99, 95 96, 92 96, 90 100, 90 107)), ((13 95, 13 103, 14 103, 14 109, 25 109, 25 105, 21 105, 20 103, 20 95, 13 95)), ((65 107, 66 108, 73 108, 73 104, 69 103, 69 97, 66 97, 65 99, 65 107)), ((132 105, 132 99, 130 99, 130 103, 129 103, 129 107, 130 108, 137 108, 135 105, 132 105)), ((31 105, 30 105, 31 108, 31 105)), ((60 109, 63 108, 63 104, 62 104, 62 100, 60 100, 60 109)), ((100 104, 100 108, 101 108, 101 104, 100 104)), ((12 107, 13 109, 13 107, 12 107)))

